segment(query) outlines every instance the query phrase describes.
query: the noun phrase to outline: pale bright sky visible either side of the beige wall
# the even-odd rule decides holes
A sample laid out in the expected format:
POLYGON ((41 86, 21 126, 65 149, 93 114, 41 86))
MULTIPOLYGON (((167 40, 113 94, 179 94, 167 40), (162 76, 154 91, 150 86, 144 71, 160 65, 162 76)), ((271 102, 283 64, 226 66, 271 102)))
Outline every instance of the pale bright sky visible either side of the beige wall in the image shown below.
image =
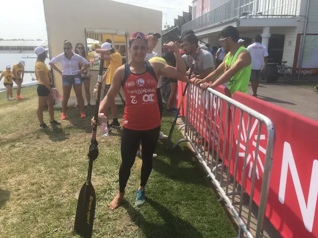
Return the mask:
MULTIPOLYGON (((188 11, 192 0, 116 0, 133 5, 144 6, 162 11, 162 28, 167 22, 173 25, 173 19, 188 11)), ((42 39, 46 40, 46 24, 42 0, 14 0, 14 9, 5 10, 2 6, 0 14, 0 38, 42 39), (17 7, 18 6, 18 7, 17 7), (14 12, 14 14, 13 14, 14 12)))

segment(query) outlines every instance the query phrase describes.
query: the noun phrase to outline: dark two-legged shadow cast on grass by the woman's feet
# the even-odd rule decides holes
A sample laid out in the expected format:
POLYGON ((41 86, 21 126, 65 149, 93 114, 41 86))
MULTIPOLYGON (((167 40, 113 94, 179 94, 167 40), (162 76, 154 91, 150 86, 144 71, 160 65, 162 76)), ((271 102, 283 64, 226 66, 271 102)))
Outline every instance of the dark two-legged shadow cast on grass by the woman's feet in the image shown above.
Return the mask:
POLYGON ((151 238, 203 238, 203 235, 190 223, 172 215, 159 202, 146 197, 147 203, 158 213, 164 224, 149 222, 134 206, 124 199, 122 207, 126 209, 131 220, 143 231, 145 237, 151 238))

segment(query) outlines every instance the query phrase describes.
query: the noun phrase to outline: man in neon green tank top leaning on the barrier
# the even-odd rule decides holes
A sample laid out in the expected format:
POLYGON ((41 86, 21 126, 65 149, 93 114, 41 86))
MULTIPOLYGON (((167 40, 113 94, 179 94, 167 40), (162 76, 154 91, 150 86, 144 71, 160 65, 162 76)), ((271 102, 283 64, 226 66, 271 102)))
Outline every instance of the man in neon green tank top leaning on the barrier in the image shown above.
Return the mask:
POLYGON ((252 60, 249 51, 244 47, 240 47, 238 40, 239 31, 235 27, 228 26, 224 28, 220 33, 219 41, 221 46, 229 53, 214 72, 204 79, 194 78, 192 81, 196 84, 202 83, 203 90, 207 88, 214 89, 229 81, 229 89, 232 95, 237 91, 246 93, 252 60), (222 76, 216 79, 221 74, 222 76), (210 83, 211 81, 212 83, 210 83))

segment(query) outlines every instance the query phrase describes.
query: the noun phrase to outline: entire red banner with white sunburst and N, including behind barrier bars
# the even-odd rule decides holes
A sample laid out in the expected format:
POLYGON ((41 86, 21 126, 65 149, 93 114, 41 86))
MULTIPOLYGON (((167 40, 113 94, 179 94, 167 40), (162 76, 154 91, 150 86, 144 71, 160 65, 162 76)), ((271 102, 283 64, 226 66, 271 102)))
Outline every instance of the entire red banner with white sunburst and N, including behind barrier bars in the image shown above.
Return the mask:
MULTIPOLYGON (((210 147, 212 148, 214 121, 216 121, 217 125, 216 133, 221 134, 221 141, 224 142, 226 104, 224 102, 223 107, 221 107, 219 102, 217 102, 218 100, 212 98, 211 94, 203 93, 201 95, 196 91, 196 87, 192 85, 191 88, 192 90, 188 89, 188 92, 191 93, 188 114, 191 117, 190 121, 193 122, 192 124, 197 130, 200 128, 204 139, 210 140, 210 147), (205 105, 207 106, 205 107, 205 105), (221 108, 223 108, 223 117, 220 121, 219 109, 221 108), (202 121, 197 119, 198 115, 201 115, 202 121), (211 127, 210 123, 202 123, 207 118, 211 122, 211 127), (206 136, 206 131, 209 130, 211 130, 211 135, 206 136)), ((227 96, 230 95, 227 92, 227 88, 218 87, 217 90, 227 96)), ((179 93, 180 91, 182 90, 178 89, 179 93)), ((180 94, 178 98, 181 98, 180 94)), ((283 237, 318 238, 318 122, 240 92, 234 93, 233 99, 265 115, 272 120, 275 126, 276 140, 269 184, 267 218, 283 237)), ((183 106, 185 114, 186 107, 185 105, 183 106)), ((219 155, 225 158, 226 164, 228 164, 229 157, 229 133, 232 125, 232 112, 233 109, 230 110, 228 118, 226 153, 224 156, 222 155, 223 142, 220 143, 219 155)), ((254 163, 257 163, 253 200, 256 204, 259 204, 268 137, 266 126, 262 124, 259 135, 258 156, 254 161, 259 121, 251 119, 250 130, 248 130, 248 118, 249 115, 243 113, 241 123, 239 123, 240 111, 236 111, 234 139, 231 144, 230 173, 234 175, 238 150, 239 170, 237 180, 241 183, 243 158, 246 153, 247 163, 244 189, 250 194, 252 167, 254 163), (250 131, 249 136, 248 131, 250 131)), ((215 151, 217 150, 217 145, 216 137, 215 151)))

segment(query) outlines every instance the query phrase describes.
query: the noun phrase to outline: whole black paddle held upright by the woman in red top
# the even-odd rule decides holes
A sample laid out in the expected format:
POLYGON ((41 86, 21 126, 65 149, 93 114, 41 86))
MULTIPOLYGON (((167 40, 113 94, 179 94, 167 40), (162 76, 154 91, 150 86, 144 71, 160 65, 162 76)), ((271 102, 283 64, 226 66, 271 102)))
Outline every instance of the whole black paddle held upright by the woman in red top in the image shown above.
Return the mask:
MULTIPOLYGON (((95 105, 95 121, 98 118, 99 100, 101 91, 101 82, 103 74, 104 60, 99 61, 99 73, 97 76, 97 94, 96 94, 96 105, 95 105)), ((74 231, 81 235, 83 238, 91 238, 93 232, 95 206, 96 206, 96 195, 95 189, 91 184, 91 173, 93 168, 93 161, 98 157, 98 143, 96 140, 97 123, 93 127, 91 135, 91 141, 89 146, 89 152, 87 154, 89 159, 87 180, 83 184, 79 192, 78 207, 76 210, 74 231)))

